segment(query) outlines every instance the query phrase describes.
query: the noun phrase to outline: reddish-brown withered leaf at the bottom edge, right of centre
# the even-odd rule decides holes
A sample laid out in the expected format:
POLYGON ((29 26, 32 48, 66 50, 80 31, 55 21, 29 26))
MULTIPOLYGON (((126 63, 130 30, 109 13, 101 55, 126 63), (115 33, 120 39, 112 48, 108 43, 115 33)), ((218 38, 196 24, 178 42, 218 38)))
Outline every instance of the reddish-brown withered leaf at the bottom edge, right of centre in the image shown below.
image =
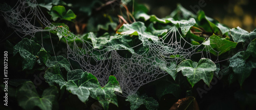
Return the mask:
POLYGON ((172 107, 170 107, 170 110, 175 110, 175 109, 199 110, 199 106, 196 98, 189 96, 189 97, 179 99, 175 104, 173 104, 172 107))

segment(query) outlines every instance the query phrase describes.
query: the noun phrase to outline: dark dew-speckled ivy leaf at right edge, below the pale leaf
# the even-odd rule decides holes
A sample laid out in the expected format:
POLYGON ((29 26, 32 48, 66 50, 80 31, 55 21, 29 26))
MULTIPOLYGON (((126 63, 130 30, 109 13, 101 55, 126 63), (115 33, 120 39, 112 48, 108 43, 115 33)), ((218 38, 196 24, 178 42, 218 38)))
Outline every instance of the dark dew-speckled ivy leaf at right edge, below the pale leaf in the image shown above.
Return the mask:
POLYGON ((237 76, 240 86, 242 86, 244 80, 250 76, 251 70, 256 68, 256 62, 253 62, 252 60, 246 61, 248 57, 248 52, 242 51, 229 59, 229 67, 232 67, 234 75, 237 76))

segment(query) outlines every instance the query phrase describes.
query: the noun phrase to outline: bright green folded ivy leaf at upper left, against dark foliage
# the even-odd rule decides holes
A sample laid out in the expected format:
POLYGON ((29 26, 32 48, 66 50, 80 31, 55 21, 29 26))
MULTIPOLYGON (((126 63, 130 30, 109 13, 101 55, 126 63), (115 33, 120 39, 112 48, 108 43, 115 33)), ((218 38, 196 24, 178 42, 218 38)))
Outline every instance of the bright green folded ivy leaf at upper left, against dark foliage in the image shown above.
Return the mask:
POLYGON ((63 20, 68 20, 68 21, 72 21, 72 19, 76 18, 76 15, 72 10, 69 9, 66 12, 65 7, 63 7, 63 6, 52 7, 49 14, 52 16, 51 19, 53 19, 54 21, 56 21, 57 18, 60 18, 63 20))

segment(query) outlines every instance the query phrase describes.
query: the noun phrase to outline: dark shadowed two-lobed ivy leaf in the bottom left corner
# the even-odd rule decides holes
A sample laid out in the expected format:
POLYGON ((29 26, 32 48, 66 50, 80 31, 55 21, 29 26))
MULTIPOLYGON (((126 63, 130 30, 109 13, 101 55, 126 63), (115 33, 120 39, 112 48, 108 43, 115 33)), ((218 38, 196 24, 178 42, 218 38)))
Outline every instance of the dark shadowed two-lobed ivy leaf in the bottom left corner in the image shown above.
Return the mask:
POLYGON ((18 104, 23 109, 34 109, 38 106, 40 109, 48 110, 53 109, 57 103, 58 89, 56 86, 51 86, 39 96, 34 84, 27 81, 20 87, 17 94, 18 104))

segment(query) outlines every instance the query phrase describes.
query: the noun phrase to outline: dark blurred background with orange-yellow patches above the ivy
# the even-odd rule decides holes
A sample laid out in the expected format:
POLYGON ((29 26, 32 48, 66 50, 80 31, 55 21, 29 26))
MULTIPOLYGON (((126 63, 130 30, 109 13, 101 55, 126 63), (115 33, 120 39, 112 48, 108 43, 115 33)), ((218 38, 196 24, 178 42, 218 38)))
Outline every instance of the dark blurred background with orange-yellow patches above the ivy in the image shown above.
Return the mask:
MULTIPOLYGON (((209 17, 217 19, 220 23, 229 28, 241 27, 246 31, 253 31, 256 28, 256 1, 254 0, 190 0, 190 1, 164 1, 164 0, 138 0, 150 10, 148 14, 155 14, 158 17, 165 17, 175 10, 178 3, 185 9, 193 11, 190 7, 197 6, 209 17), (206 4, 200 7, 199 2, 206 4), (197 6, 196 6, 197 5, 197 6)), ((196 14, 196 12, 194 12, 196 14)))

